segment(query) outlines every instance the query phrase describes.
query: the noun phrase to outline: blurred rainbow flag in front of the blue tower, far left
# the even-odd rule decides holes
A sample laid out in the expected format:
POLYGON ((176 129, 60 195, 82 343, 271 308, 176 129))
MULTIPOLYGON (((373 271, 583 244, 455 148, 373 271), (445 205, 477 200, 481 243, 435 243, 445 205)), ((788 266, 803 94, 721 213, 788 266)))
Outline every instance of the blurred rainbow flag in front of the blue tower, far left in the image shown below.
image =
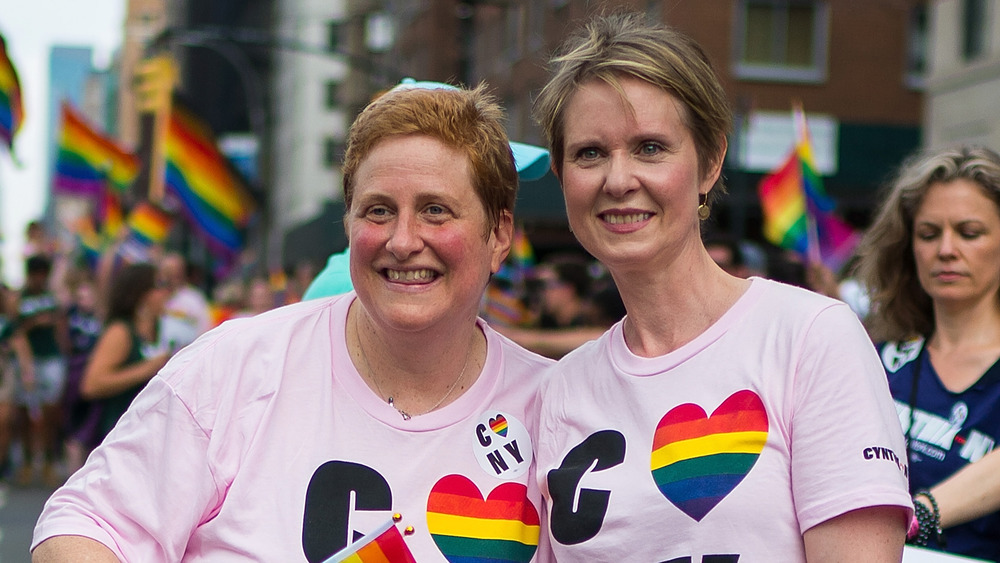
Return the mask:
POLYGON ((62 104, 62 130, 53 188, 98 198, 106 184, 124 192, 139 175, 139 159, 87 124, 68 103, 62 104))

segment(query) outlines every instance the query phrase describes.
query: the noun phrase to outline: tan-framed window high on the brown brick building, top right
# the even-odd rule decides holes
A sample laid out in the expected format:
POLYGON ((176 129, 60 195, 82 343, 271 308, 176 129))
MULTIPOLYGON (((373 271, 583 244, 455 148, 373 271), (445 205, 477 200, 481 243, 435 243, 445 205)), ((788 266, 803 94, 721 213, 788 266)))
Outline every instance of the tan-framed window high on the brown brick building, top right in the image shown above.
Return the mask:
POLYGON ((808 0, 740 0, 734 42, 737 78, 826 79, 829 6, 808 0))

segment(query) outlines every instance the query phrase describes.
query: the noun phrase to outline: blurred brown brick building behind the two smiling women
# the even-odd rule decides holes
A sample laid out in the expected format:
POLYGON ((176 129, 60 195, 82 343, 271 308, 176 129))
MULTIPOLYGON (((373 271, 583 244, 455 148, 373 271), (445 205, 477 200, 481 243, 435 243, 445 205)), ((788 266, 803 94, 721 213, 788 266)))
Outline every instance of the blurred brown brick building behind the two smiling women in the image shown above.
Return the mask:
MULTIPOLYGON (((980 0, 989 1, 989 0, 980 0)), ((359 2, 360 3, 360 2, 359 2)), ((808 116, 827 191, 863 226, 876 192, 921 143, 927 6, 922 0, 384 0, 395 17, 391 58, 431 80, 485 80, 503 101, 511 137, 539 143, 533 97, 549 55, 598 10, 627 7, 665 22, 706 50, 736 124, 724 174, 730 195, 718 228, 761 238, 760 179, 794 140, 791 108, 808 116)), ((525 183, 517 216, 537 238, 571 241, 551 178, 525 183)))

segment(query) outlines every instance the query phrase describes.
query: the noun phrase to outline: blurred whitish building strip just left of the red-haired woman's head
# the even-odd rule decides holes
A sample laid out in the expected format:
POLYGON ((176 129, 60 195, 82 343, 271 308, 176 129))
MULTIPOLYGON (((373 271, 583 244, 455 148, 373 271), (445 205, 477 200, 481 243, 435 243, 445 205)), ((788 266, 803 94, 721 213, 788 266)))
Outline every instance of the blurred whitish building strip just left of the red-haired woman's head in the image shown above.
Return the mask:
POLYGON ((350 14, 346 0, 295 0, 276 6, 277 37, 303 46, 275 52, 271 84, 273 197, 281 262, 321 260, 340 250, 346 237, 339 217, 315 223, 340 194, 340 159, 349 117, 342 100, 349 64, 340 54, 350 14), (306 48, 308 46, 308 48, 306 48), (335 222, 335 223, 331 223, 335 222), (298 233, 298 234, 297 234, 298 233))

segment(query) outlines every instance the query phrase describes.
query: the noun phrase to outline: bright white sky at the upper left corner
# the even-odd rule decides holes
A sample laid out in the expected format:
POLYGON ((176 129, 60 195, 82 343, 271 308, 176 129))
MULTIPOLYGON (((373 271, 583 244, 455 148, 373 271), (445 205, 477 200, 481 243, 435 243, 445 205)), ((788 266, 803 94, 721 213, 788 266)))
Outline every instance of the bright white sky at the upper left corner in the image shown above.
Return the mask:
POLYGON ((94 66, 106 68, 121 44, 126 0, 0 0, 0 33, 17 68, 24 96, 24 127, 14 141, 21 167, 0 151, 0 257, 11 286, 23 279, 24 227, 45 209, 48 165, 45 131, 49 51, 53 46, 88 46, 94 66))

